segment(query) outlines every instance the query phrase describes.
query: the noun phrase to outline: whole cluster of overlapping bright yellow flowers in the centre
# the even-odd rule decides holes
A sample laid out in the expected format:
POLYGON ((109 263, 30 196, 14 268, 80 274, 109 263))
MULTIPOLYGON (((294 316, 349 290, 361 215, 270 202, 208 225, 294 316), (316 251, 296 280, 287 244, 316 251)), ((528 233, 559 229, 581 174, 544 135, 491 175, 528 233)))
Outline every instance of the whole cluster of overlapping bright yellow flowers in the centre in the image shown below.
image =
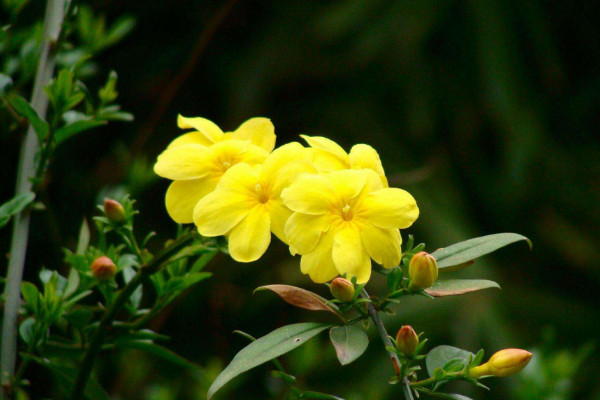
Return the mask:
POLYGON ((299 254, 315 282, 338 275, 369 280, 371 259, 385 268, 401 259, 399 229, 419 216, 415 199, 388 187, 379 155, 357 144, 347 153, 318 136, 275 148, 275 128, 252 118, 224 133, 204 118, 179 116, 191 132, 158 156, 154 171, 173 180, 166 208, 204 236, 225 235, 231 256, 259 259, 271 233, 299 254))

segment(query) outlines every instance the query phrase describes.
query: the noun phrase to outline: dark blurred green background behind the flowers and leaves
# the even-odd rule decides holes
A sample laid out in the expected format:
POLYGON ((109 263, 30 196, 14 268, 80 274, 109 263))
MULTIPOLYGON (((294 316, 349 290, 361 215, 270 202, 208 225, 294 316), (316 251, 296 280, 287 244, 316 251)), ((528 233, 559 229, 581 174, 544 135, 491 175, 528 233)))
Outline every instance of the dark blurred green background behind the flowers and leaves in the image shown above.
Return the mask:
MULTIPOLYGON (((41 13, 43 2, 29 7, 41 13)), ((430 251, 496 232, 515 244, 460 276, 493 279, 489 290, 452 299, 410 298, 386 323, 426 332, 431 346, 488 355, 532 350, 519 376, 488 381, 478 399, 600 399, 600 4, 565 0, 91 1, 114 21, 135 18, 102 52, 98 87, 114 69, 132 123, 70 139, 51 165, 47 213, 36 214, 26 279, 44 265, 64 269, 81 219, 105 193, 138 200, 141 231, 175 232, 164 209, 166 180, 155 157, 181 132, 176 116, 203 116, 233 130, 253 116, 276 127, 278 144, 324 135, 344 148, 375 147, 394 186, 421 216, 403 232, 430 251)), ((95 86, 94 86, 95 85, 95 86)), ((0 199, 14 190, 20 137, 0 136, 0 199)), ((8 251, 9 229, 0 232, 8 251)), ((156 240, 159 243, 160 240, 156 240)), ((4 263, 2 263, 4 265, 4 263)), ((168 347, 203 368, 190 372, 137 352, 105 356, 100 379, 121 399, 202 399, 245 344, 284 324, 326 320, 255 287, 288 283, 322 294, 299 259, 274 243, 258 262, 213 260, 213 278, 152 327, 168 347)), ((375 276, 371 291, 383 289, 375 276)), ((365 356, 340 367, 327 335, 283 358, 306 388, 346 399, 396 399, 374 330, 365 356)), ((219 398, 267 399, 281 383, 263 366, 219 398)), ((42 371, 39 372, 42 374, 42 371)), ((42 392, 42 390, 40 389, 42 392)), ((36 392, 36 388, 33 388, 36 392)))

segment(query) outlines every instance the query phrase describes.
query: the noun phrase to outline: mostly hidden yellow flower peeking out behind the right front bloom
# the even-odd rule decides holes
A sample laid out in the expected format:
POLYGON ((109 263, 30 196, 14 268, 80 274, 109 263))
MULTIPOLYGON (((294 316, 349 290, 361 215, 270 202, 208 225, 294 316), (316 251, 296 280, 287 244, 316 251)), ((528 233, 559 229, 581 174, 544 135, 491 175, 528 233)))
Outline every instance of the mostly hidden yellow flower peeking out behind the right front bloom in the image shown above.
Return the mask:
POLYGON ((387 178, 377 151, 368 144, 356 144, 346 153, 333 140, 322 136, 300 135, 310 145, 315 155, 315 167, 319 172, 332 172, 342 169, 370 169, 375 171, 384 187, 388 187, 387 178))

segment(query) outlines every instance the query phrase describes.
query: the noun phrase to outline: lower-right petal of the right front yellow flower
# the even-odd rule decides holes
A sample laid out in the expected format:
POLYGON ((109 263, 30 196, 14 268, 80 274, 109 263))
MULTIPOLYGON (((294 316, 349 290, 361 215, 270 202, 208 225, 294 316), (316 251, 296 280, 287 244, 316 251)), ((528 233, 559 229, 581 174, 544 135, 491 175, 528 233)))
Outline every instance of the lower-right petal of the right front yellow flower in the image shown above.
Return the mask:
POLYGON ((400 264, 402 238, 398 229, 383 229, 369 223, 361 224, 359 228, 365 249, 376 263, 385 268, 400 264))

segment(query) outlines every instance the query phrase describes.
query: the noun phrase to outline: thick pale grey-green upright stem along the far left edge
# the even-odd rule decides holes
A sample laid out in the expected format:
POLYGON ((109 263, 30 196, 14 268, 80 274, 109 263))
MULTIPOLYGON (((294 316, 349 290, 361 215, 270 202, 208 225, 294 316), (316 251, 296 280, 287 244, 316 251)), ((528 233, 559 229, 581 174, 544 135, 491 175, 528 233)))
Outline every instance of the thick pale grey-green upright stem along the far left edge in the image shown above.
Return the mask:
MULTIPOLYGON (((54 74, 55 44, 64 18, 64 8, 65 0, 48 0, 46 5, 44 38, 33 84, 33 94, 31 96, 31 105, 41 118, 45 118, 48 109, 48 97, 46 97, 43 88, 54 74)), ((38 138, 33 127, 30 125, 21 147, 16 194, 31 191, 32 182, 30 178, 35 174, 35 155, 38 149, 38 138)), ((25 209, 15 216, 6 288, 4 291, 6 303, 4 305, 2 352, 0 355, 0 378, 3 386, 10 384, 11 376, 15 371, 15 361, 17 358, 17 313, 21 301, 21 281, 23 279, 28 237, 29 209, 25 209)), ((4 398, 4 395, 2 397, 4 398)))

